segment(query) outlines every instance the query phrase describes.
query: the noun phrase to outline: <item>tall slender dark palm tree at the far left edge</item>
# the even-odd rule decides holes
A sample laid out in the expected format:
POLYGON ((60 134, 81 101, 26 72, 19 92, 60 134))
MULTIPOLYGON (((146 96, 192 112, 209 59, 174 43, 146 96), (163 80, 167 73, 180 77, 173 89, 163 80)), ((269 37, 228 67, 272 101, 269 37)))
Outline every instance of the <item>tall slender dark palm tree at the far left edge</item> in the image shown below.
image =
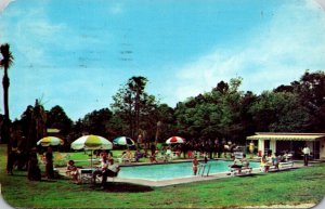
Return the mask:
POLYGON ((2 60, 0 61, 0 66, 3 67, 4 74, 2 78, 3 86, 3 106, 4 106, 4 121, 2 129, 3 140, 8 143, 8 153, 11 152, 11 142, 10 142, 10 118, 9 118, 9 103, 8 103, 8 90, 10 86, 10 80, 8 77, 8 69, 13 64, 13 55, 10 51, 10 45, 4 43, 0 45, 0 53, 2 54, 2 60))

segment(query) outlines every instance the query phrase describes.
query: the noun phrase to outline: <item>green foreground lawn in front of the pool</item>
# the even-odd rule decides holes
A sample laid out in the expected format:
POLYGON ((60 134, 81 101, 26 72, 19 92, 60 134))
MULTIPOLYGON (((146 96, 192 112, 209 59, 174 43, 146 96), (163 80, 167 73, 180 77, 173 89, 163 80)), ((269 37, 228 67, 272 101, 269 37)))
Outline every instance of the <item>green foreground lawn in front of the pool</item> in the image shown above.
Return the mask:
POLYGON ((26 171, 6 175, 4 148, 0 146, 2 196, 18 208, 234 208, 317 204, 325 194, 324 164, 165 187, 108 182, 101 190, 67 179, 30 182, 26 171))

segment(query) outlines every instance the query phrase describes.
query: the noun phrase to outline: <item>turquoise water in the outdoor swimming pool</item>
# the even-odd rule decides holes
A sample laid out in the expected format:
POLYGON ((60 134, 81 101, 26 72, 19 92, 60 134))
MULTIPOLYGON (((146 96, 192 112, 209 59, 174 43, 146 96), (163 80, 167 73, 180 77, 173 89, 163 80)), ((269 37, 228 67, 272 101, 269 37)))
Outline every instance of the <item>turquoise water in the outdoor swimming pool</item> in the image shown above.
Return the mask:
MULTIPOLYGON (((210 160, 209 174, 229 172, 229 165, 232 161, 224 160, 210 160)), ((251 168, 258 168, 259 162, 250 161, 251 168)), ((206 167, 207 169, 207 167, 206 167)), ((207 170, 205 171, 205 173, 207 170)), ((162 164, 162 165, 148 165, 148 166, 132 166, 121 167, 118 173, 119 178, 126 179, 144 179, 152 181, 170 180, 178 178, 193 177, 192 162, 178 162, 178 164, 162 164)))

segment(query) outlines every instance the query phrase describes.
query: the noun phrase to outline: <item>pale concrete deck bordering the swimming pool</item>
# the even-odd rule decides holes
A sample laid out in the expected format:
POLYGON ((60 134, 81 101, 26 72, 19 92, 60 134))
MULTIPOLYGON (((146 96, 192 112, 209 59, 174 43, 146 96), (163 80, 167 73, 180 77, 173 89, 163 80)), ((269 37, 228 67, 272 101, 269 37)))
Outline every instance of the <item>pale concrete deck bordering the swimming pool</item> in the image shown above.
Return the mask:
MULTIPOLYGON (((183 161, 191 161, 191 160, 179 159, 179 160, 173 160, 172 164, 183 162, 183 161)), ((161 164, 166 164, 166 162, 161 162, 161 164)), ((168 164, 170 164, 170 162, 168 162, 168 164)), ((142 166, 142 165, 144 166, 144 165, 157 165, 157 164, 132 162, 132 164, 123 164, 120 166, 127 167, 127 166, 142 166)), ((292 169, 301 168, 301 167, 303 167, 303 164, 301 164, 301 161, 295 161, 295 166, 292 167, 292 169)), ((286 170, 288 170, 288 169, 286 169, 286 170)), ((280 170, 280 171, 282 171, 282 170, 280 170)), ((272 172, 274 172, 274 171, 270 171, 270 173, 272 173, 272 172)), ((60 173, 63 174, 64 170, 61 170, 60 173)), ((258 174, 258 173, 263 174, 263 172, 260 170, 260 168, 252 169, 250 174, 258 174)), ((227 172, 222 172, 222 173, 218 173, 218 174, 212 173, 212 174, 206 175, 206 173, 205 173, 204 175, 199 174, 199 175, 193 175, 190 178, 178 178, 178 179, 172 179, 172 180, 159 180, 159 181, 144 180, 144 179, 126 179, 126 178, 117 177, 117 178, 107 178, 107 182, 125 182, 125 183, 132 183, 132 184, 158 187, 158 186, 169 186, 169 185, 183 184, 183 183, 209 181, 209 180, 223 179, 223 178, 244 177, 244 175, 250 175, 250 174, 232 175, 227 171, 227 172)))

